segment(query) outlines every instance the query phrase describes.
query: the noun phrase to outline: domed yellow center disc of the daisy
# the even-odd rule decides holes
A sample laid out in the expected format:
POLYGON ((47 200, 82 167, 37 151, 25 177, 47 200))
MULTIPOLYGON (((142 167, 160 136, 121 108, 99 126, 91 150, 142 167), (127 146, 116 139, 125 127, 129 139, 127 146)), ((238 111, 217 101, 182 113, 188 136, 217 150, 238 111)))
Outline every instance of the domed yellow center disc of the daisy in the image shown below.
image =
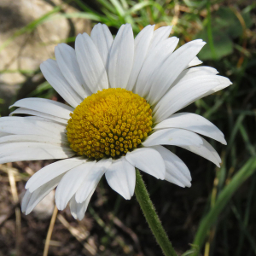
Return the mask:
POLYGON ((137 148, 152 130, 150 105, 143 97, 120 88, 88 96, 70 116, 70 147, 90 159, 125 155, 137 148))

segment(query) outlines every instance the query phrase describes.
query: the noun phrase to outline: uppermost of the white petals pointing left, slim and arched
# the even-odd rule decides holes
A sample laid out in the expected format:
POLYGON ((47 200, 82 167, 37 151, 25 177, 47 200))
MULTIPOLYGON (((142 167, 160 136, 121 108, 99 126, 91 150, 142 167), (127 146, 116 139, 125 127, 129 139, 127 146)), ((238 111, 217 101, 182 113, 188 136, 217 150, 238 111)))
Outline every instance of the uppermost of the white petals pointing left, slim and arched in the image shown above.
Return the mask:
POLYGON ((48 99, 41 99, 41 98, 26 98, 15 102, 12 106, 13 107, 20 107, 20 108, 27 108, 34 111, 47 113, 53 115, 55 117, 61 119, 70 119, 70 113, 73 113, 73 108, 61 103, 55 102, 48 99))

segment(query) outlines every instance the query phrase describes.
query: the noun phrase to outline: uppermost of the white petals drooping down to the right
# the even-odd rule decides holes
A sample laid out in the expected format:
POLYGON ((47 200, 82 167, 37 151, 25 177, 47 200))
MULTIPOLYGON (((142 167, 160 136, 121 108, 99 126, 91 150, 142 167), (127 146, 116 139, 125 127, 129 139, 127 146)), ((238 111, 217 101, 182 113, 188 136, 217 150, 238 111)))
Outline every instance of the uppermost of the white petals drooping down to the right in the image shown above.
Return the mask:
POLYGON ((210 121, 195 113, 176 113, 169 119, 165 119, 154 130, 165 128, 182 128, 189 131, 200 133, 201 135, 211 137, 212 139, 226 145, 224 134, 210 121))

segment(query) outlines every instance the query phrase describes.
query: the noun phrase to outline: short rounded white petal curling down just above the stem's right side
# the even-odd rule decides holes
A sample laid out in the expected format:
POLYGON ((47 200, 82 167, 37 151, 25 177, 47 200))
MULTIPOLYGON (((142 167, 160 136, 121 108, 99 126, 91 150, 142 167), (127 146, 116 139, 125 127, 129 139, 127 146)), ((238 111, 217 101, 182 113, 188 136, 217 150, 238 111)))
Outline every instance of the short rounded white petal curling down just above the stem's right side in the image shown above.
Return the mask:
POLYGON ((143 172, 164 179, 166 166, 161 155, 153 148, 137 148, 125 155, 125 158, 132 166, 143 172))

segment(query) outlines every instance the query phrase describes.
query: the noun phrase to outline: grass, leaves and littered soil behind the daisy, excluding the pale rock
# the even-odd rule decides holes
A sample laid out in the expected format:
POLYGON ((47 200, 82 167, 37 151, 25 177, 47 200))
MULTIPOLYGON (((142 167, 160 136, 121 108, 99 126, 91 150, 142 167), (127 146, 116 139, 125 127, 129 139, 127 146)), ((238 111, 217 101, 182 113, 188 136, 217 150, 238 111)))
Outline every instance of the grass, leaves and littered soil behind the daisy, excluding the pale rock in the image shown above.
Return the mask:
MULTIPOLYGON (((135 35, 148 24, 173 25, 172 36, 180 38, 179 45, 195 38, 207 42, 198 57, 204 61, 203 65, 217 68, 233 84, 185 110, 201 114, 224 132, 227 146, 210 141, 223 164, 217 168, 183 148, 171 148, 189 166, 192 187, 182 189, 148 175, 143 178, 179 255, 256 255, 256 4, 246 0, 70 0, 65 3, 77 12, 66 13, 62 5, 57 5, 47 15, 16 31, 0 45, 0 50, 20 35, 33 33, 44 22, 73 17, 91 20, 91 26, 105 23, 113 34, 126 22, 131 23, 135 35)), ((63 41, 73 46, 75 36, 71 32, 63 41)), ((38 67, 3 69, 0 73, 26 76, 13 102, 28 96, 58 97, 47 82, 32 82, 39 73, 38 67)), ((2 116, 9 114, 4 101, 0 99, 2 116)), ((33 213, 19 215, 16 194, 22 193, 36 166, 47 163, 0 166, 0 255, 42 255, 50 217, 39 220, 33 213)), ((125 201, 104 179, 82 222, 73 220, 68 210, 57 214, 50 229, 53 228, 53 234, 49 255, 160 255, 136 199, 125 201)))

